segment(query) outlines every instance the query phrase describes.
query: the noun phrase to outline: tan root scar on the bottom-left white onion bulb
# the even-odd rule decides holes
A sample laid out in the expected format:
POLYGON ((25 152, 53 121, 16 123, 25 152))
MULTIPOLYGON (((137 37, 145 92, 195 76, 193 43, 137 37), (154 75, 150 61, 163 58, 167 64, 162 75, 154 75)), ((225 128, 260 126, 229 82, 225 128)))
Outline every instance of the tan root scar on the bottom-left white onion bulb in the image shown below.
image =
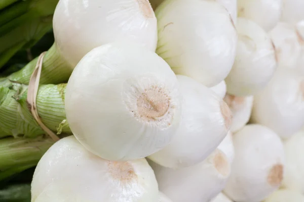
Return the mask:
POLYGON ((129 162, 109 161, 108 171, 114 179, 121 182, 128 183, 137 179, 134 168, 129 162))

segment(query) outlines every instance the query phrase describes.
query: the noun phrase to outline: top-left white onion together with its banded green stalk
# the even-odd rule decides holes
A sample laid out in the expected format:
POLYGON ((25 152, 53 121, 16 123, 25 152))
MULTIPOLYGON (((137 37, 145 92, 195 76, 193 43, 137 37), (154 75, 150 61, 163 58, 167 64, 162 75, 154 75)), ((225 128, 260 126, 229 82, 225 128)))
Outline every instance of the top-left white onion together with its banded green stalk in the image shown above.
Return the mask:
MULTIPOLYGON (((157 44, 156 17, 148 0, 60 0, 53 29, 55 43, 43 61, 44 84, 66 82, 81 58, 99 45, 122 40, 155 51, 157 44)), ((36 62, 37 58, 9 79, 27 84, 36 62)))

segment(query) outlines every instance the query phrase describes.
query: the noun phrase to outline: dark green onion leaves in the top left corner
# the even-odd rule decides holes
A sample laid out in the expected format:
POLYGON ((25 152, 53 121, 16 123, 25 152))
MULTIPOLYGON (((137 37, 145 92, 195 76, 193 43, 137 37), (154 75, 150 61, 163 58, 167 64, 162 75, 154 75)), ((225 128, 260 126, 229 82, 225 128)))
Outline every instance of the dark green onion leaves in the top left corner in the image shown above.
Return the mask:
POLYGON ((20 49, 29 48, 52 29, 58 0, 2 0, 0 3, 0 68, 20 49))

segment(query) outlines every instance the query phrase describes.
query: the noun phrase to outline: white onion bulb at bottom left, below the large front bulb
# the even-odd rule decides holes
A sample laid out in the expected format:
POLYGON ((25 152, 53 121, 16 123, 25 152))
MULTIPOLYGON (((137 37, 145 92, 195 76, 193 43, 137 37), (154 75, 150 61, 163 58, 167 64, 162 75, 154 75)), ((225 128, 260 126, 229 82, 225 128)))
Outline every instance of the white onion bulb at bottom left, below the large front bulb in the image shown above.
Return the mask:
POLYGON ((159 190, 145 159, 107 161, 69 136, 52 145, 38 163, 31 197, 32 202, 155 202, 159 190))

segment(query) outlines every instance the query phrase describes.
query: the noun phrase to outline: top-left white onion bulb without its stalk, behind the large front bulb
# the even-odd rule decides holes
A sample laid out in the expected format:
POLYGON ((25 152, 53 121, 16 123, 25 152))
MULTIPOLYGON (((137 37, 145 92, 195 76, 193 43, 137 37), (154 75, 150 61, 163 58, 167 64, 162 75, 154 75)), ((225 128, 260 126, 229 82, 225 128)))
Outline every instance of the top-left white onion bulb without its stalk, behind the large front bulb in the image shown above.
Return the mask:
POLYGON ((136 42, 150 51, 157 44, 157 19, 148 0, 60 0, 53 29, 57 47, 72 67, 109 42, 136 42))

